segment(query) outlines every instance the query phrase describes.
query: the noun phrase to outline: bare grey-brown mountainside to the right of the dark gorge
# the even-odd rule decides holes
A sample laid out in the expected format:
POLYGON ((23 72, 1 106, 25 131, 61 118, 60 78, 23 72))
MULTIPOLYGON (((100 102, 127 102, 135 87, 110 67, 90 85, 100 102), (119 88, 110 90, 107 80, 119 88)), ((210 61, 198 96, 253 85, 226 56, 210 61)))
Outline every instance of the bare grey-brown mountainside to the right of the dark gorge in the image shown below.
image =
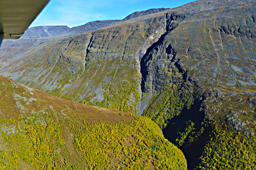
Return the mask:
MULTIPOLYGON (((181 72, 187 71, 187 78, 193 77, 193 80, 198 80, 201 87, 216 87, 217 85, 228 88, 233 85, 233 89, 240 89, 240 87, 248 88, 248 90, 255 89, 256 84, 253 80, 255 62, 251 60, 255 58, 253 52, 255 48, 252 48, 255 39, 251 38, 255 34, 253 31, 255 24, 251 18, 253 10, 249 10, 248 7, 248 14, 241 16, 241 8, 232 4, 231 1, 225 1, 224 9, 219 8, 219 3, 211 1, 207 3, 211 4, 211 8, 216 5, 216 9, 210 11, 218 12, 211 14, 206 8, 191 13, 189 17, 178 23, 178 26, 170 24, 174 27, 171 28, 172 31, 167 29, 161 43, 158 42, 150 53, 145 54, 148 71, 153 67, 156 71, 146 78, 149 81, 148 84, 152 84, 151 89, 157 90, 155 88, 161 84, 161 82, 154 83, 151 80, 152 76, 159 74, 157 71, 161 67, 159 65, 171 60, 178 61, 177 68, 182 69, 181 72), (229 3, 231 4, 228 5, 229 3), (236 14, 239 23, 227 17, 232 13, 236 14), (239 28, 240 33, 238 33, 239 28), (243 33, 242 30, 245 29, 251 32, 243 33)), ((252 6, 255 7, 255 4, 252 6)), ((242 8, 247 9, 245 2, 242 8)), ((162 79, 171 80, 170 78, 162 79)))

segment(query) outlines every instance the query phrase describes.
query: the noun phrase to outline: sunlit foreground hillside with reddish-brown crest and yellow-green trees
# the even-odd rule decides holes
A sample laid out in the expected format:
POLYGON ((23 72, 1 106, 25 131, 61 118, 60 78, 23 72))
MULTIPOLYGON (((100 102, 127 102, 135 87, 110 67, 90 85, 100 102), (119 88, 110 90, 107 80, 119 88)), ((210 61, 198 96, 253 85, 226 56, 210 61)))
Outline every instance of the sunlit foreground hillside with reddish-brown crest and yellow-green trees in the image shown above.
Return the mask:
POLYGON ((53 97, 0 76, 0 169, 186 169, 148 118, 53 97))

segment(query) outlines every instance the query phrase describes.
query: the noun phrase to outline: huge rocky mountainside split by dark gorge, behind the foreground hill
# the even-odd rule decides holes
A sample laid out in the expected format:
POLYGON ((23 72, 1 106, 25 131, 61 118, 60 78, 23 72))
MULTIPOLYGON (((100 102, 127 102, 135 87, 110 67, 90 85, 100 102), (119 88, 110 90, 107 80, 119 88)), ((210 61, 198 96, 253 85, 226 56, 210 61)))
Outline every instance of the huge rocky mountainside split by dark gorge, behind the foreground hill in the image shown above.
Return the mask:
POLYGON ((201 101, 205 119, 190 134, 209 135, 212 121, 254 135, 255 11, 251 0, 195 1, 70 37, 5 41, 0 74, 161 128, 201 101))

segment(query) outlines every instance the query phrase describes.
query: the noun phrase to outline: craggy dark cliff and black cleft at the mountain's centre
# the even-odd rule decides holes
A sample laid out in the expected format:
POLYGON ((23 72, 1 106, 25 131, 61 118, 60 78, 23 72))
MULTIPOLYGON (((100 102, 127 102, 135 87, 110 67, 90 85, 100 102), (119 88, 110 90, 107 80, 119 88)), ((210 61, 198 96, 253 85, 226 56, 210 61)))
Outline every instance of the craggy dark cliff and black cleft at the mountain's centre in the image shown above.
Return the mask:
MULTIPOLYGON (((171 64, 171 62, 175 60, 176 51, 172 48, 171 44, 166 46, 166 44, 163 44, 163 41, 167 34, 175 29, 180 21, 184 20, 186 17, 189 17, 189 15, 190 14, 166 14, 166 32, 162 34, 157 42, 148 48, 140 62, 141 74, 143 77, 141 89, 143 92, 152 90, 160 91, 161 87, 163 87, 165 83, 177 83, 177 81, 173 81, 172 76, 168 76, 170 75, 168 74, 168 71, 172 70, 174 67, 176 68, 175 62, 171 64), (161 54, 158 52, 162 52, 164 50, 167 56, 161 57, 161 54), (154 77, 152 75, 154 75, 154 77)), ((178 80, 180 82, 183 81, 182 77, 176 77, 174 79, 180 79, 178 80)))

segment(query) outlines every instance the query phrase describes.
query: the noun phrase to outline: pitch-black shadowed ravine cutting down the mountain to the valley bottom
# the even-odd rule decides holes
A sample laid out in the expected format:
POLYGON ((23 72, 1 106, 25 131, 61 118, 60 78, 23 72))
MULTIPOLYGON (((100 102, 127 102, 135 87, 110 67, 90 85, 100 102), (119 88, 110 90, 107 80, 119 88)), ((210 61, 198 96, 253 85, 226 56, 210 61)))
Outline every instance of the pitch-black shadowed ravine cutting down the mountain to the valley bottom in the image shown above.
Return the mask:
MULTIPOLYGON (((161 35, 158 41, 153 43, 146 51, 146 53, 143 55, 140 61, 140 72, 142 75, 141 79, 141 91, 146 92, 148 89, 146 89, 146 81, 147 81, 147 74, 148 74, 148 62, 152 59, 152 51, 160 50, 159 46, 163 44, 165 36, 170 33, 175 27, 178 25, 180 20, 183 20, 190 16, 189 14, 185 15, 175 15, 175 14, 166 14, 166 32, 161 35)), ((179 60, 175 58, 176 56, 176 50, 172 47, 171 43, 168 45, 168 47, 165 49, 165 52, 167 54, 171 54, 170 56, 173 56, 172 58, 169 58, 171 62, 174 62, 175 66, 177 67, 177 70, 183 75, 184 81, 187 79, 187 72, 179 65, 179 60)), ((189 81, 191 81, 188 78, 189 81)), ((191 82, 194 84, 193 82, 191 82)), ((188 109, 183 109, 181 114, 179 116, 174 117, 170 120, 170 123, 166 126, 165 129, 163 129, 163 134, 166 139, 168 139, 170 142, 175 143, 175 140, 177 139, 177 133, 178 130, 182 131, 185 128, 186 122, 191 120, 193 123, 195 123, 194 127, 196 131, 199 131, 201 128, 201 123, 204 121, 204 113, 200 110, 200 105, 202 101, 195 101, 195 103, 192 105, 192 107, 188 109)), ((201 156, 203 152, 203 147, 205 143, 208 140, 209 136, 209 130, 204 130, 204 132, 201 134, 201 136, 192 144, 189 146, 187 145, 187 141, 185 140, 185 143, 179 147, 179 149, 183 152, 187 159, 187 167, 188 169, 194 169, 199 164, 199 157, 201 156)))

